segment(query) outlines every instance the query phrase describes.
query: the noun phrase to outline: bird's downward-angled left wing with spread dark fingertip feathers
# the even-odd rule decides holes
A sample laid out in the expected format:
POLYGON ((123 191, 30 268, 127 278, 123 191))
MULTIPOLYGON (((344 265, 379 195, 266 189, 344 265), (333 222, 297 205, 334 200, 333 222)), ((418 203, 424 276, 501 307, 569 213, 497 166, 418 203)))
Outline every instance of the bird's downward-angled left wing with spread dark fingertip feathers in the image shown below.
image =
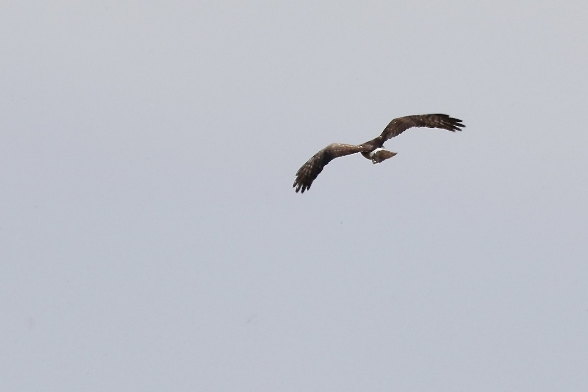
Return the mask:
POLYGON ((306 161, 296 172, 296 180, 292 187, 296 187, 296 192, 302 190, 302 193, 310 188, 312 181, 323 171, 323 167, 335 158, 346 156, 349 154, 359 153, 361 151, 369 151, 369 148, 362 145, 353 146, 352 144, 329 144, 312 158, 306 161))

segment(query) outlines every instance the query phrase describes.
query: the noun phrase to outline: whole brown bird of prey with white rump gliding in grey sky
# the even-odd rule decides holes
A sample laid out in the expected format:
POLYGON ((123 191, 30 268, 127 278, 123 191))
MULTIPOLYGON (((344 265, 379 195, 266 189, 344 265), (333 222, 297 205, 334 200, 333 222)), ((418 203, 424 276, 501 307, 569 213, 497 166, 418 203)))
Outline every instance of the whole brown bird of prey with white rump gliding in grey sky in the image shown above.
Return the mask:
POLYGON ((409 128, 439 128, 448 131, 461 131, 462 120, 454 119, 447 116, 447 114, 421 114, 420 116, 406 116, 399 117, 390 121, 390 124, 382 131, 380 136, 365 143, 353 144, 329 144, 312 158, 306 161, 296 172, 296 180, 292 187, 296 188, 296 192, 308 190, 312 181, 323 170, 326 164, 335 158, 346 156, 349 154, 362 153, 362 156, 371 160, 373 164, 383 162, 388 158, 392 158, 397 153, 387 151, 382 148, 386 140, 389 140, 399 134, 403 133, 409 128))

